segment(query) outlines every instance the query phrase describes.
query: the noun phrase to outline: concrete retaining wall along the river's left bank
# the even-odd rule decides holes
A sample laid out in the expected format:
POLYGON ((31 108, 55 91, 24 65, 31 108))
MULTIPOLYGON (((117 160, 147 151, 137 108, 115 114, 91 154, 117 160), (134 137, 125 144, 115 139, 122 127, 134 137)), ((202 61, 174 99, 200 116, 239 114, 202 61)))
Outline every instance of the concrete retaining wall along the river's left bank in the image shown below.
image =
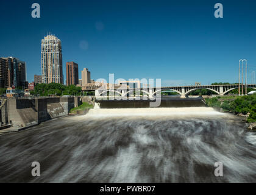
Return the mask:
POLYGON ((80 97, 7 99, 8 122, 13 127, 29 127, 49 119, 68 115, 69 110, 78 107, 80 97))

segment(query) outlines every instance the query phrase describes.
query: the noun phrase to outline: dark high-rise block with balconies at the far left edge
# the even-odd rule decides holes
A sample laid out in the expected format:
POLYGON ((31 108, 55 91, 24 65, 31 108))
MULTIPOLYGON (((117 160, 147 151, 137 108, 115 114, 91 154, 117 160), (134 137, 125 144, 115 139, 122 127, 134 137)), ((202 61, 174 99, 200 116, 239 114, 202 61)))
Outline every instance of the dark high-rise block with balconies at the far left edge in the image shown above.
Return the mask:
POLYGON ((2 57, 0 60, 1 86, 26 87, 26 62, 15 57, 2 57), (4 80, 4 81, 2 81, 4 80))

